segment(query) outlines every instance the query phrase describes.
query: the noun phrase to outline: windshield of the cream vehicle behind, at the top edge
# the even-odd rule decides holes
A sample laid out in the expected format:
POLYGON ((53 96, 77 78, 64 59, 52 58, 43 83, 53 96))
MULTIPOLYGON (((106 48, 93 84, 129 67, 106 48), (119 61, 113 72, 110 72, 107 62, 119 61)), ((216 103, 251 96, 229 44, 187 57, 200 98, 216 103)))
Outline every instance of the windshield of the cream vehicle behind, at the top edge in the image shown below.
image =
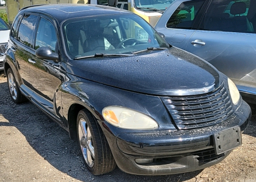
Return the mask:
POLYGON ((164 11, 174 1, 175 0, 135 0, 134 4, 137 9, 141 9, 143 11, 164 11))

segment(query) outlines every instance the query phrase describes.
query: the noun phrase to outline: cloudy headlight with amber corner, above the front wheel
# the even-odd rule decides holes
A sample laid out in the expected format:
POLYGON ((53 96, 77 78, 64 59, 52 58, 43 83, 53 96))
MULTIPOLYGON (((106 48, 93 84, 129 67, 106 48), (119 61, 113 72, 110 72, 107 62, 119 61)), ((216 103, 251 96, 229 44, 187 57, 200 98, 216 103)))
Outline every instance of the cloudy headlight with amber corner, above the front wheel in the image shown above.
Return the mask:
POLYGON ((109 106, 102 110, 103 118, 110 124, 126 129, 156 129, 158 123, 152 118, 124 107, 109 106))

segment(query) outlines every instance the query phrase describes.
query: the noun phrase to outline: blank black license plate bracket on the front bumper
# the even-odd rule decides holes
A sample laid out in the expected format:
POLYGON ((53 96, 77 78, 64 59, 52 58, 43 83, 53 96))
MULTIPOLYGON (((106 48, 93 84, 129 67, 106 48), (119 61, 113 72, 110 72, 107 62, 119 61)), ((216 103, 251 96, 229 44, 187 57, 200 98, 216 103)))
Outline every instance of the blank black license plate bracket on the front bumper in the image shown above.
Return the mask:
POLYGON ((232 127, 214 134, 215 153, 222 154, 242 145, 241 129, 232 127))

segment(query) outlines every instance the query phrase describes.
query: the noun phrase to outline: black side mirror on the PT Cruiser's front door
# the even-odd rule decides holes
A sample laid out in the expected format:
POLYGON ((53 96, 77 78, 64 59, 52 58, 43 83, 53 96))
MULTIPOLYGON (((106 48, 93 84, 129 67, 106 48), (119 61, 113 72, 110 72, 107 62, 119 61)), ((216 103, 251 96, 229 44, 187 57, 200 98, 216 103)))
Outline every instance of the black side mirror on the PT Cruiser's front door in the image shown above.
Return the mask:
POLYGON ((50 60, 53 60, 54 62, 58 62, 58 60, 59 60, 59 55, 57 53, 53 53, 51 48, 49 48, 49 47, 38 48, 35 51, 35 55, 38 58, 50 59, 50 60))

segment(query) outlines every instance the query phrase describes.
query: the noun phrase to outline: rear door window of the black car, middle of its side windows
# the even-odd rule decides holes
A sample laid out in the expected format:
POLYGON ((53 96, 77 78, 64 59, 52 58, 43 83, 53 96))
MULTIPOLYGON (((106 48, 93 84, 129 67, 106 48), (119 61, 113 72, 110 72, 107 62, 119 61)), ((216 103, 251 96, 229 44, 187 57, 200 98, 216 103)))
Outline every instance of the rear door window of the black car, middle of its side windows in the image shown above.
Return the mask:
POLYGON ((35 24, 37 21, 36 15, 25 14, 22 22, 20 22, 18 30, 18 41, 32 48, 32 37, 35 30, 35 24))

